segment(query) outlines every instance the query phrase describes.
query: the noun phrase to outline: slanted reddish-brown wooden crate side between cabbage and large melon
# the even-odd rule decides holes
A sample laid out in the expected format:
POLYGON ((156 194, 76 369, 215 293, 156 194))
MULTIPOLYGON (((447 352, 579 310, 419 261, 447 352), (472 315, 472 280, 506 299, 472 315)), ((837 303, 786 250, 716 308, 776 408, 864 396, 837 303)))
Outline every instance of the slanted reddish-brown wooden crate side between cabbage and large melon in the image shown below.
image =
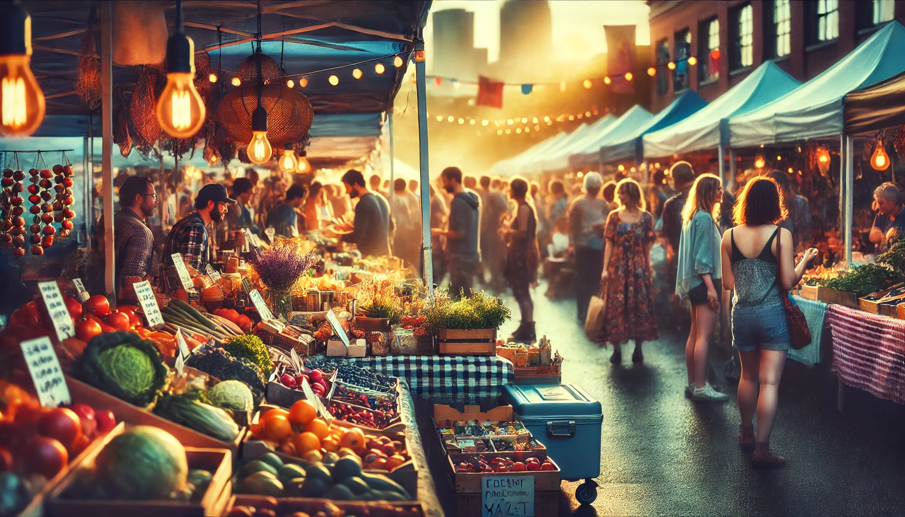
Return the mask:
MULTIPOLYGON (((235 454, 242 444, 243 436, 245 436, 246 427, 239 427, 239 435, 232 442, 224 442, 218 440, 214 436, 207 436, 199 433, 195 429, 176 424, 167 420, 162 416, 157 416, 151 412, 151 407, 138 407, 129 404, 125 400, 113 397, 106 391, 94 388, 77 378, 66 376, 66 384, 69 386, 69 392, 72 400, 78 400, 88 404, 94 409, 110 409, 117 420, 126 422, 134 426, 155 426, 167 431, 167 433, 176 436, 179 443, 189 447, 201 447, 212 449, 228 449, 235 454)), ((169 517, 169 516, 168 516, 169 517)))

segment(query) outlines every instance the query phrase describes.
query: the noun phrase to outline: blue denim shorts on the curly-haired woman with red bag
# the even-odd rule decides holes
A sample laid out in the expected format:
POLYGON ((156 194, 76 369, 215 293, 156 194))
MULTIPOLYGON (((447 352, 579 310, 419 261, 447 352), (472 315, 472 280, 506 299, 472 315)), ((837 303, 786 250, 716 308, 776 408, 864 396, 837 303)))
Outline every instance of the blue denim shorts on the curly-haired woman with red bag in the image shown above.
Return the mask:
POLYGON ((746 352, 758 347, 765 350, 792 348, 786 307, 780 303, 733 309, 732 346, 746 352))

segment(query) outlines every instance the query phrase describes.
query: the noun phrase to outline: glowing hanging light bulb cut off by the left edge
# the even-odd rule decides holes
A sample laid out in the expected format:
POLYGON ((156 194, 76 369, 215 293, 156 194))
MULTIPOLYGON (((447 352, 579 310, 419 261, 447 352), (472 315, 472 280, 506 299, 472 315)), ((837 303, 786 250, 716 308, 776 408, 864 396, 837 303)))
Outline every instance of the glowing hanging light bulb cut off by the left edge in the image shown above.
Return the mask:
POLYGON ((31 135, 44 120, 44 93, 32 73, 32 17, 19 2, 0 4, 0 133, 31 135))

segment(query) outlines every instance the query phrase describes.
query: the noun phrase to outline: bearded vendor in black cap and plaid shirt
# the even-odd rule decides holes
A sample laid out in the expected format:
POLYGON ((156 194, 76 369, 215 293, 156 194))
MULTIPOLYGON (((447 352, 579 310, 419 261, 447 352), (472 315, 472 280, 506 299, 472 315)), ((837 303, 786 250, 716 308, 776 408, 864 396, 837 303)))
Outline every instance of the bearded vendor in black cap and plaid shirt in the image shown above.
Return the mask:
MULTIPOLYGON (((182 254, 186 265, 204 272, 205 266, 211 263, 211 244, 206 226, 212 222, 219 223, 229 206, 235 203, 235 199, 227 196, 226 187, 219 183, 202 187, 195 197, 195 212, 180 219, 170 230, 167 244, 164 245, 164 263, 172 266, 173 254, 182 254)), ((170 276, 172 275, 167 273, 167 277, 170 276)), ((171 278, 169 283, 172 289, 180 286, 178 278, 171 278)))

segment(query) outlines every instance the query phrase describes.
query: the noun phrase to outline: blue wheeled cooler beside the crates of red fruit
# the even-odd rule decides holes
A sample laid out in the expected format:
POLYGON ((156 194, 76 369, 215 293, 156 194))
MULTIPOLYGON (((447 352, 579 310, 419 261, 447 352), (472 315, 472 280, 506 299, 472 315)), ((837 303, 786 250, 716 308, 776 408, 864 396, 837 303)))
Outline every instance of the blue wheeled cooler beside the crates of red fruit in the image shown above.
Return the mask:
POLYGON ((503 386, 503 398, 535 438, 547 446, 562 478, 586 480, 578 485, 579 503, 593 503, 600 475, 600 429, 604 415, 600 402, 575 384, 503 386))

